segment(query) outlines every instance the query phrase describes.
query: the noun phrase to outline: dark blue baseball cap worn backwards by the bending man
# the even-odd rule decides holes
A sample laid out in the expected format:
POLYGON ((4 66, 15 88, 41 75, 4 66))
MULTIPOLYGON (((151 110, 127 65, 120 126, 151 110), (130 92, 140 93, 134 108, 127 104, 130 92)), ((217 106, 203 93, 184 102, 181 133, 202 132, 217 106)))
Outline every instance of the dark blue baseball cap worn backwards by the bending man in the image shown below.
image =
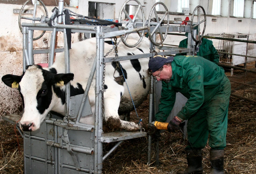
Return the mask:
POLYGON ((152 72, 156 72, 160 69, 165 63, 170 63, 174 59, 173 56, 170 57, 162 57, 161 55, 155 55, 148 62, 148 68, 152 70, 152 72))

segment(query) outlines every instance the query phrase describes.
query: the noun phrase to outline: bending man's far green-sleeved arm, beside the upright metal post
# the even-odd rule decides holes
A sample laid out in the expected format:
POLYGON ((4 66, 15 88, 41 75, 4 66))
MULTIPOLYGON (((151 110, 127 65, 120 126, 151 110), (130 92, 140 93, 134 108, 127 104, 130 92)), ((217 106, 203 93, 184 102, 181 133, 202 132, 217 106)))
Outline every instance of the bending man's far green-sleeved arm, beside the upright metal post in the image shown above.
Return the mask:
POLYGON ((168 83, 162 82, 161 99, 155 121, 165 122, 174 106, 176 92, 168 89, 168 85, 168 83))

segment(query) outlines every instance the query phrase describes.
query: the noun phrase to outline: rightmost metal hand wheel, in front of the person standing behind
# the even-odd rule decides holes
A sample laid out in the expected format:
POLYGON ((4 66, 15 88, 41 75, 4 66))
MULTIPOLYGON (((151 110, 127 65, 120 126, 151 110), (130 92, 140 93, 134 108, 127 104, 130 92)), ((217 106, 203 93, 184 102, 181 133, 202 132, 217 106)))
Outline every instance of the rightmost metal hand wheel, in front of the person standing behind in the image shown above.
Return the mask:
POLYGON ((190 27, 191 36, 192 36, 192 39, 195 42, 198 42, 199 40, 201 40, 203 38, 205 27, 206 27, 206 14, 205 14, 204 8, 201 5, 198 5, 198 6, 196 6, 196 8, 193 11, 193 14, 192 14, 192 17, 191 17, 191 27, 190 27), (202 8, 203 13, 204 13, 204 19, 202 21, 200 21, 200 8, 202 8), (195 15, 196 10, 197 10, 197 24, 193 25, 193 19, 194 19, 194 15, 195 15), (203 29, 203 32, 202 32, 201 36, 200 36, 200 32, 198 32, 198 38, 199 39, 197 40, 197 39, 194 38, 193 30, 194 30, 194 27, 198 26, 198 31, 200 31, 200 26, 199 25, 200 25, 200 23, 203 23, 203 22, 204 22, 204 29, 203 29))

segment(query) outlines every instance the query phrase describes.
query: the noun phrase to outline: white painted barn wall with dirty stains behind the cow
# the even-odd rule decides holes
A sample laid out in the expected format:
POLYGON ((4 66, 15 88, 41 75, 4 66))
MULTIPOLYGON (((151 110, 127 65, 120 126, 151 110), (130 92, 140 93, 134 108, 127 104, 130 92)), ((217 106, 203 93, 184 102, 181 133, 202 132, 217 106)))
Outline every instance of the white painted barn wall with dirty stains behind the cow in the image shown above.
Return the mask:
MULTIPOLYGON (((251 11, 247 8, 245 12, 246 18, 230 18, 230 3, 232 0, 222 0, 221 6, 221 16, 212 16, 207 15, 207 25, 206 31, 207 33, 256 33, 256 19, 251 19, 251 11), (217 22, 212 22, 211 19, 217 19, 217 22), (242 20, 242 22, 238 22, 238 20, 242 20)), ((124 4, 125 0, 94 0, 93 2, 104 2, 104 3, 113 3, 113 8, 104 9, 106 10, 106 17, 108 14, 113 16, 113 18, 118 18, 121 6, 124 4)), ((135 1, 132 1, 133 4, 135 1)), ((142 4, 145 17, 148 19, 149 12, 155 4, 155 0, 139 0, 142 4)), ((171 12, 175 11, 176 6, 178 6, 177 0, 161 0, 161 2, 165 3, 168 10, 171 12)), ((245 5, 252 4, 252 0, 246 0, 245 5)), ((70 6, 78 6, 78 9, 70 7, 70 9, 74 12, 82 14, 84 16, 88 15, 88 1, 85 0, 71 0, 70 6)), ((197 5, 202 5, 206 11, 208 12, 208 1, 205 0, 190 0, 190 13, 193 12, 194 8, 197 5)), ((0 76, 2 77, 5 74, 22 74, 22 34, 18 27, 18 14, 13 13, 13 9, 20 9, 22 5, 15 4, 1 4, 0 9, 2 10, 2 16, 0 18, 0 76)), ((49 16, 52 14, 51 10, 54 6, 47 6, 49 16)), ((40 16, 43 14, 43 11, 37 14, 40 16)), ((105 14, 106 14, 105 13, 105 14)), ((105 15, 104 14, 104 15, 105 15)), ((186 16, 183 15, 170 15, 170 20, 174 20, 174 18, 182 18, 185 20, 186 16)), ((191 15, 189 15, 191 19, 191 15)), ((201 19, 203 17, 201 16, 201 19)), ((202 27, 201 27, 202 29, 202 27)), ((59 43, 58 46, 63 46, 62 42, 62 33, 59 33, 59 43)), ((46 32, 43 38, 47 38, 50 42, 50 32, 46 32)), ((46 48, 46 44, 43 43, 43 38, 34 42, 35 48, 46 48)), ((178 45, 179 41, 185 39, 184 36, 170 36, 166 38, 164 43, 178 45)), ((76 42, 77 34, 72 34, 72 42, 76 42)), ((214 40, 213 40, 214 41, 214 40)), ((216 44, 217 41, 214 41, 216 44)), ((50 45, 49 45, 50 46, 50 45)), ((250 46, 253 47, 253 46, 250 46)), ((253 48, 251 48, 253 50, 253 48)), ((37 55, 35 56, 36 63, 46 63, 46 55, 37 55)), ((0 81, 0 113, 18 113, 21 111, 21 99, 17 92, 17 89, 11 89, 4 85, 2 81, 0 81)))

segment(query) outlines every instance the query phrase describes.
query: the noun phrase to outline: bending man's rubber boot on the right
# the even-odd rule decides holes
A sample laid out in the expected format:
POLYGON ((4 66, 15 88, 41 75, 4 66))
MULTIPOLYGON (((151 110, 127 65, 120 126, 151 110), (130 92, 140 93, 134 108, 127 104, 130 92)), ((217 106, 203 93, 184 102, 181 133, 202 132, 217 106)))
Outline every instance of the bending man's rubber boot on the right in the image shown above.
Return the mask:
POLYGON ((211 171, 209 174, 224 174, 224 149, 210 150, 211 171))

